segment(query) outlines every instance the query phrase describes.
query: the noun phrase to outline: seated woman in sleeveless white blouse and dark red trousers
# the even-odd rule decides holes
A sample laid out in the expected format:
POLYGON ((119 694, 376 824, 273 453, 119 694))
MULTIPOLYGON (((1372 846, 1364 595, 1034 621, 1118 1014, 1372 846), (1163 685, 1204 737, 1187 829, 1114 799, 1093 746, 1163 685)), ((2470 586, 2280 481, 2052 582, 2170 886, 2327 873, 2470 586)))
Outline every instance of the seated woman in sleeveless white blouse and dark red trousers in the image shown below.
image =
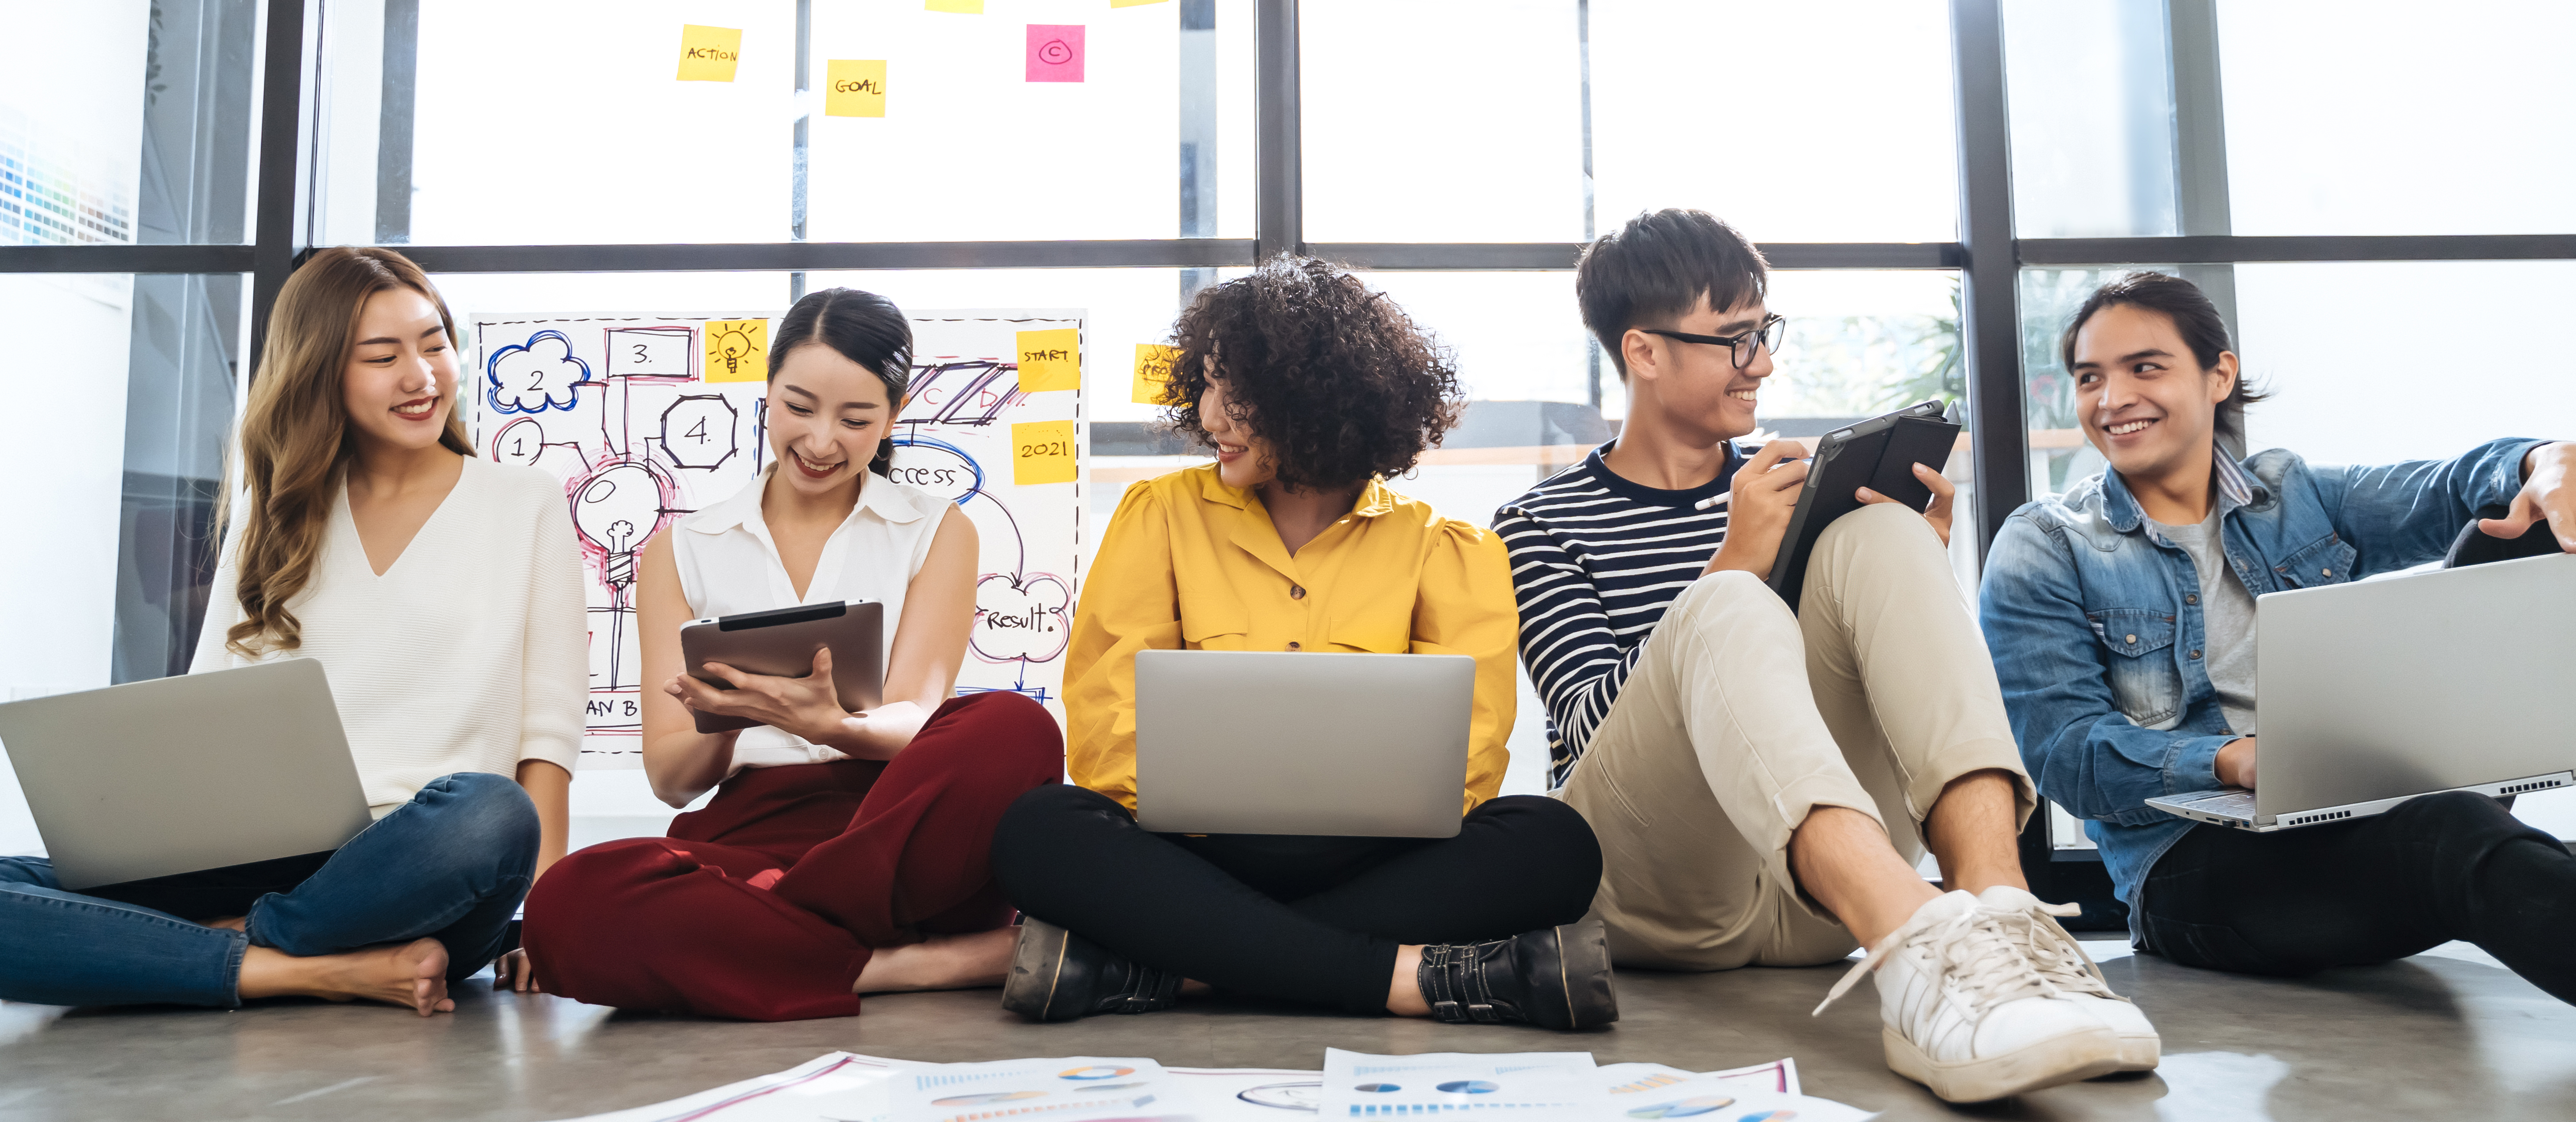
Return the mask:
POLYGON ((582 849, 528 896, 546 991, 626 1009, 783 1022, 858 1014, 858 993, 999 986, 1012 908, 992 831, 1064 775, 1064 736, 1018 692, 951 697, 974 625, 976 533, 886 479, 912 327, 876 293, 796 301, 770 347, 770 468, 644 548, 644 772, 665 839, 582 849), (770 607, 884 605, 884 705, 811 677, 680 667, 680 625, 770 607), (757 721, 698 733, 690 710, 757 721))

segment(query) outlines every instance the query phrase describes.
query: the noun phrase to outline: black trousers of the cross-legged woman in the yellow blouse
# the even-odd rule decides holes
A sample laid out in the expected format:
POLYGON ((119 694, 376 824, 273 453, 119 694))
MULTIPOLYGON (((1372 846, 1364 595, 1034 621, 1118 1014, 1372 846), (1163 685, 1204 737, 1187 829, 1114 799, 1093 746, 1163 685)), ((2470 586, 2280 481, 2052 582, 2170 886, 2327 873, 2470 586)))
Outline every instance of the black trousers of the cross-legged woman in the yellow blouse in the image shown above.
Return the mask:
POLYGON ((1383 1014, 1396 944, 1574 924, 1602 849, 1538 795, 1468 811, 1453 839, 1149 834, 1118 800, 1038 787, 1002 816, 992 870, 1020 911, 1216 988, 1383 1014))

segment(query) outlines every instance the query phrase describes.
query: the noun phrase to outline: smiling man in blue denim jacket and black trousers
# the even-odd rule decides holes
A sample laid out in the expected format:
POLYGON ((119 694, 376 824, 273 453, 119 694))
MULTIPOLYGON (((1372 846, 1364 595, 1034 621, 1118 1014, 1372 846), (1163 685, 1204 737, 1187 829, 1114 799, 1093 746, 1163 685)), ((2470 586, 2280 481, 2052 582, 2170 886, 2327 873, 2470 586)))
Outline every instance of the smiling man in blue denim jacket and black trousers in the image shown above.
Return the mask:
POLYGON ((2576 857, 2494 798, 2282 834, 2146 805, 2254 787, 2254 597, 2437 561, 2486 507, 2506 517, 2481 530, 2519 538, 2545 517, 2576 553, 2576 445, 2494 440, 2370 468, 2280 448, 2231 461, 2218 437, 2241 440, 2259 396, 2210 301, 2161 273, 2087 299, 2061 353, 2110 471, 2012 512, 1981 618, 2022 762, 2087 818, 2138 950, 2295 975, 2468 939, 2576 1001, 2576 857))

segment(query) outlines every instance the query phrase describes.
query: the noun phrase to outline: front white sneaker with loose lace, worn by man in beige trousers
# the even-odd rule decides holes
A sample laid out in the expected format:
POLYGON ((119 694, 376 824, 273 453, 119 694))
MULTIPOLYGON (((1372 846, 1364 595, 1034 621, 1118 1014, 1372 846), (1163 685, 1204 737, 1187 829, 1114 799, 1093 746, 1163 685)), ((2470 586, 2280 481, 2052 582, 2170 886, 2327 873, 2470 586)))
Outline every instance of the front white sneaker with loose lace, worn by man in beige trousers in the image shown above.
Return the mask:
POLYGON ((1986 1101, 2120 1071, 2120 1037, 2069 1001, 2007 934, 2007 911, 1947 893, 1914 911, 1834 983, 1878 973, 1888 1068, 1947 1101, 1986 1101))

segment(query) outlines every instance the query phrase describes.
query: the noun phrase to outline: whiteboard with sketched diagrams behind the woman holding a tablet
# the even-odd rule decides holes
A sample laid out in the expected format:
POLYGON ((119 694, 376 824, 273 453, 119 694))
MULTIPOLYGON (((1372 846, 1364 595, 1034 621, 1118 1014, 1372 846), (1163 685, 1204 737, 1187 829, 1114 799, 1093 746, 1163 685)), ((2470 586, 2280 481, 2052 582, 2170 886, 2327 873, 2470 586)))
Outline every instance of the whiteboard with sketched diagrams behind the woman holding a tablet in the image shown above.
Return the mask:
MULTIPOLYGON (((912 311, 912 404, 894 479, 943 494, 981 540, 958 695, 1012 690, 1064 718, 1082 546, 1084 412, 1074 386, 1020 389, 1020 332, 1082 311, 912 311), (1023 481, 1025 479, 1025 481, 1023 481), (1041 481, 1043 479, 1043 481, 1041 481)), ((636 553, 768 466, 762 396, 775 314, 477 314, 466 425, 500 463, 564 481, 590 579, 585 767, 641 767, 636 553)), ((1036 378, 1033 378, 1036 381, 1036 378)), ((1048 378, 1048 383, 1077 378, 1048 378)))

